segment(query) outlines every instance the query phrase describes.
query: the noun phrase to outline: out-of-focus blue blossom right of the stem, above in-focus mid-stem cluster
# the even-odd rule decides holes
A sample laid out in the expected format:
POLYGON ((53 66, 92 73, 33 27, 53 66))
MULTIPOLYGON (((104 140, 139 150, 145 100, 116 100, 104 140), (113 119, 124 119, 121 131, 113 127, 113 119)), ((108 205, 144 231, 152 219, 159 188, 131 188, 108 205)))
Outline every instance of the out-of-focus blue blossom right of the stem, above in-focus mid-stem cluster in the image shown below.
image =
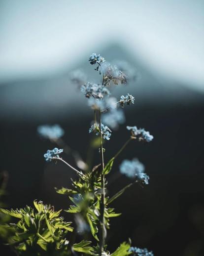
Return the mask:
POLYGON ((111 108, 108 113, 102 116, 102 122, 112 129, 117 129, 120 124, 125 122, 123 110, 111 108))

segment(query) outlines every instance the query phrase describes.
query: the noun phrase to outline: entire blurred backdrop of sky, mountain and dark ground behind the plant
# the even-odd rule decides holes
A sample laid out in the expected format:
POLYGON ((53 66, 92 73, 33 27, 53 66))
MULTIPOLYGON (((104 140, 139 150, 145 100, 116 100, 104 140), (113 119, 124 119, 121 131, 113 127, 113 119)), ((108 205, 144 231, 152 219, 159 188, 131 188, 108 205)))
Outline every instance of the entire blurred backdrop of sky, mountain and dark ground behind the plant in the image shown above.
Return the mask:
MULTIPOLYGON (((67 209, 54 187, 70 186, 74 173, 46 164, 53 144, 36 128, 60 124, 64 140, 87 156, 93 113, 73 71, 100 76, 88 63, 92 52, 107 61, 125 60, 136 80, 113 94, 136 98, 125 108, 126 124, 107 142, 107 161, 129 136, 126 125, 154 135, 129 145, 114 165, 110 194, 128 184, 118 177, 122 159, 137 157, 150 184, 131 187, 113 206, 108 249, 130 237, 155 256, 204 256, 204 1, 203 0, 1 0, 0 171, 9 174, 8 207, 34 199, 67 209)), ((72 159, 67 160, 74 165, 72 159)), ((94 155, 93 164, 99 156, 94 155)), ((68 219, 72 216, 66 215, 68 219)), ((12 253, 1 245, 0 255, 12 253)))

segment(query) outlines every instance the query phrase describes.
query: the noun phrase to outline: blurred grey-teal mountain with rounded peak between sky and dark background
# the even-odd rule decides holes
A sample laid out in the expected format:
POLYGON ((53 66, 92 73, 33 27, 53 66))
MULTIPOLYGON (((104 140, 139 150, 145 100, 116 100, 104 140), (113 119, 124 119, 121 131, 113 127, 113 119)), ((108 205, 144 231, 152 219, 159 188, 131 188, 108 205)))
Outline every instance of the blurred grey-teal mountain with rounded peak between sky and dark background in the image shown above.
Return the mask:
MULTIPOLYGON (((136 97, 138 107, 146 104, 199 104, 204 100, 204 93, 173 79, 153 74, 145 60, 133 56, 126 47, 110 44, 104 47, 100 54, 109 62, 116 59, 124 60, 136 68, 136 81, 128 85, 118 85, 117 90, 114 89, 114 95, 120 97, 129 92, 136 97)), ((87 55, 89 56, 89 53, 87 55)), ((84 70, 90 82, 101 81, 94 66, 88 63, 88 58, 85 61, 82 60, 81 63, 74 63, 72 70, 75 69, 84 70)), ((85 97, 79 93, 79 87, 70 82, 72 70, 64 67, 60 72, 46 77, 36 77, 31 80, 22 78, 1 84, 0 119, 30 121, 35 119, 50 122, 53 119, 72 118, 76 113, 85 115, 89 112, 86 108, 87 102, 85 97)))

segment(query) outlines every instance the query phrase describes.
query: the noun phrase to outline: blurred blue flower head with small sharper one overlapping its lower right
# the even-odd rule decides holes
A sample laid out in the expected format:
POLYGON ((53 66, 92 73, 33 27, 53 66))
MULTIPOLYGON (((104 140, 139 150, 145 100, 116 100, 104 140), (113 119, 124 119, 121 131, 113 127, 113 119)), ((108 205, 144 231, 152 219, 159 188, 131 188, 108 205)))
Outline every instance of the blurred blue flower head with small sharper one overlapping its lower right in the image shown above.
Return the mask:
POLYGON ((144 171, 144 165, 137 158, 134 158, 132 161, 123 160, 120 165, 120 172, 122 174, 125 174, 129 178, 137 177, 144 184, 148 184, 149 176, 144 171))

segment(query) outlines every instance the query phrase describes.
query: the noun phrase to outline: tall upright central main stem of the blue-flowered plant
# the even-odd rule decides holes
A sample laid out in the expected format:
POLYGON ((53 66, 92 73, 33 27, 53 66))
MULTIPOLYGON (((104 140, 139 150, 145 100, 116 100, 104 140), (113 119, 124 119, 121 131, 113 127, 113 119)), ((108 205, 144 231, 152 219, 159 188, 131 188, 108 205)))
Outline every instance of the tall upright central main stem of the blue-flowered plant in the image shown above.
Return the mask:
POLYGON ((103 149, 102 149, 102 119, 101 119, 101 109, 99 111, 99 128, 101 135, 101 145, 100 145, 100 154, 101 154, 101 180, 102 180, 102 193, 100 201, 100 256, 102 256, 103 247, 105 244, 105 223, 104 223, 104 212, 105 212, 105 177, 102 174, 104 169, 104 159, 103 159, 103 149))

